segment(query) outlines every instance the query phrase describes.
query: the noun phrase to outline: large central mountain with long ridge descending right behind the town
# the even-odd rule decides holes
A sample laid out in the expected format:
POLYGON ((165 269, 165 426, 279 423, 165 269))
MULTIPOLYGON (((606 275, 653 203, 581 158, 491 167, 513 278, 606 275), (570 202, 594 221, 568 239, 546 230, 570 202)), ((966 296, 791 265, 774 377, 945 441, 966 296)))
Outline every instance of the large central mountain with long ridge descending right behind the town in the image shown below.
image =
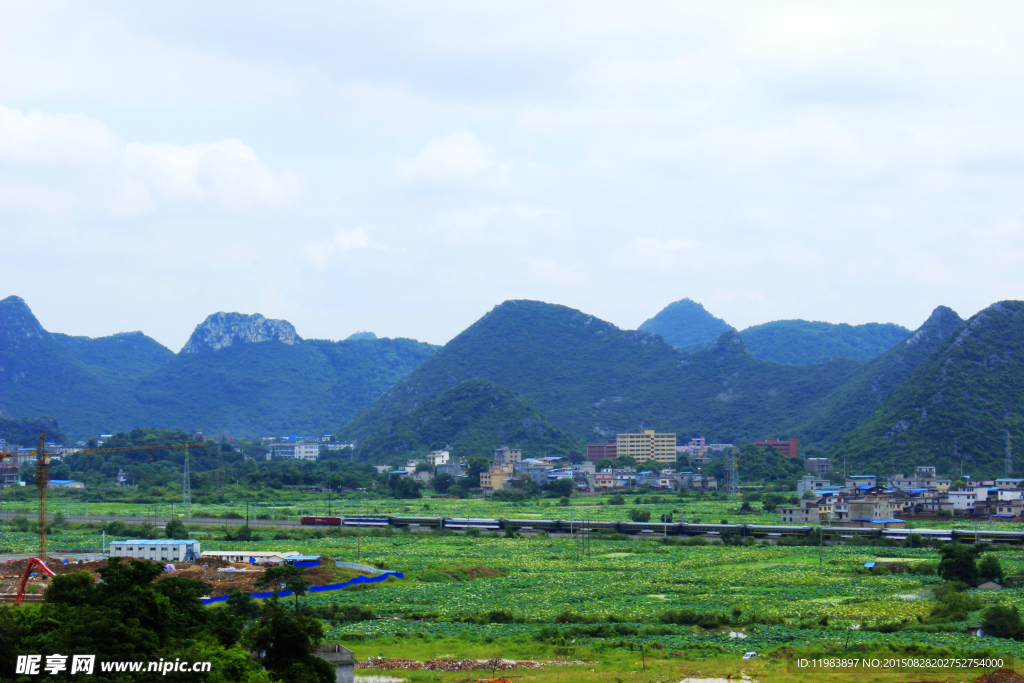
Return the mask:
MULTIPOLYGON (((924 348, 926 341, 913 347, 924 348)), ((895 368, 882 359, 776 364, 750 355, 736 332, 723 334, 710 349, 688 353, 659 335, 620 330, 565 306, 507 301, 340 433, 369 439, 461 382, 486 380, 523 396, 578 438, 647 427, 682 439, 795 434, 827 444, 871 414, 879 396, 892 389, 887 378, 898 378, 920 358, 904 354, 898 362, 890 360, 895 368)))

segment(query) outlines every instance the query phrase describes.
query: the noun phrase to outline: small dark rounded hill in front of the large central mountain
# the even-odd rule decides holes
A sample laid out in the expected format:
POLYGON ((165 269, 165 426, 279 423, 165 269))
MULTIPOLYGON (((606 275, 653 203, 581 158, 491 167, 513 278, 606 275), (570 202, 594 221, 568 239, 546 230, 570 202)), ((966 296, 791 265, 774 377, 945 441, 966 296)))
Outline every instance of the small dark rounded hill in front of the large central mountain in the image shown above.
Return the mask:
POLYGON ((552 426, 522 396, 484 380, 467 380, 403 413, 359 444, 371 461, 451 446, 459 457, 489 458, 501 444, 531 457, 583 453, 584 443, 552 426))

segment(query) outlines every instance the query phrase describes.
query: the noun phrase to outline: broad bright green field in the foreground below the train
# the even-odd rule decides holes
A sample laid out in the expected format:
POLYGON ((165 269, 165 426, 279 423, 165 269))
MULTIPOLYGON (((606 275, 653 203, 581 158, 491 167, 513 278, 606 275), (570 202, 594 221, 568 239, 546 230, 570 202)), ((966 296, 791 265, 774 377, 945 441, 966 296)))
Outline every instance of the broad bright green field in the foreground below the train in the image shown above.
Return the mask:
MULTIPOLYGON (((727 505, 705 505, 723 504, 727 505)), ((50 547, 95 545, 96 540, 94 533, 57 533, 51 537, 50 547)), ((0 532, 0 547, 31 552, 35 543, 33 533, 0 532)), ((762 680, 824 680, 820 673, 787 671, 785 657, 739 659, 749 650, 771 653, 779 648, 830 655, 895 651, 962 656, 987 650, 1024 656, 1024 643, 966 634, 968 624, 981 618, 980 610, 963 623, 949 625, 951 630, 946 632, 872 630, 901 622, 916 628, 918 617, 927 616, 935 606, 931 591, 940 581, 934 574, 871 575, 864 571, 864 562, 934 562, 938 553, 931 549, 825 547, 819 567, 817 548, 689 547, 665 545, 658 539, 592 539, 583 550, 565 538, 403 531, 359 537, 325 533, 301 541, 255 543, 203 540, 204 550, 232 548, 297 550, 382 562, 404 572, 404 581, 378 588, 301 598, 309 607, 356 605, 390 617, 326 624, 329 639, 344 643, 360 659, 376 655, 426 659, 443 654, 455 658, 566 656, 600 663, 589 668, 517 671, 513 672, 516 683, 735 677, 744 668, 762 680), (444 571, 456 566, 486 566, 505 575, 453 581, 452 577, 460 578, 458 571, 444 571), (666 613, 673 610, 697 610, 718 615, 722 623, 716 628, 665 623, 666 613), (492 612, 499 612, 496 623, 488 623, 494 621, 487 616, 492 612)), ((997 556, 1008 574, 1024 574, 1024 550, 1000 550, 997 556)), ((1024 606, 1021 589, 972 593, 983 607, 996 601, 1024 606)), ((467 676, 365 673, 393 673, 422 681, 466 680, 467 676)), ((941 677, 929 678, 926 672, 847 672, 829 678, 974 680, 979 673, 942 672, 941 677)))

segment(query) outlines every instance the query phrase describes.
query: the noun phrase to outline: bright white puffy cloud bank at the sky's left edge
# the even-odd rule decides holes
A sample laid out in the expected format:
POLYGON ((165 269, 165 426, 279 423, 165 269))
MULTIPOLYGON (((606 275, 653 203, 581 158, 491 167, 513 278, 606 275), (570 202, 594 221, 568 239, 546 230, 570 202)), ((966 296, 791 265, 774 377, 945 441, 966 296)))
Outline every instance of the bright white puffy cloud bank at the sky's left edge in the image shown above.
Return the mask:
POLYGON ((124 143, 81 113, 0 106, 0 202, 6 208, 137 216, 181 208, 247 213, 285 209, 302 181, 273 171, 236 139, 124 143))

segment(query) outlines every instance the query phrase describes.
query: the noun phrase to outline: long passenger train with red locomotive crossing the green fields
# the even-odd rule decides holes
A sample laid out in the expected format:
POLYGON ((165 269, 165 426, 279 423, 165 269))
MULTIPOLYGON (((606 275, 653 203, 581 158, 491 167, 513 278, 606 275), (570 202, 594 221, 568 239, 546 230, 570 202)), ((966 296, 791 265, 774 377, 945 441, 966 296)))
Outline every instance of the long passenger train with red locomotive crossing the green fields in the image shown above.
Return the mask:
MULTIPOLYGON (((568 520, 568 519, 492 519, 484 517, 302 517, 306 526, 356 526, 408 528, 419 526, 434 529, 467 531, 548 531, 555 533, 627 533, 630 536, 739 536, 755 539, 804 538, 817 526, 790 524, 703 524, 678 522, 634 522, 611 520, 568 520)), ((904 541, 915 533, 924 539, 940 542, 961 543, 1024 543, 1024 531, 971 530, 971 529, 928 529, 928 528, 878 528, 870 526, 825 526, 824 532, 830 538, 891 539, 904 541)))

